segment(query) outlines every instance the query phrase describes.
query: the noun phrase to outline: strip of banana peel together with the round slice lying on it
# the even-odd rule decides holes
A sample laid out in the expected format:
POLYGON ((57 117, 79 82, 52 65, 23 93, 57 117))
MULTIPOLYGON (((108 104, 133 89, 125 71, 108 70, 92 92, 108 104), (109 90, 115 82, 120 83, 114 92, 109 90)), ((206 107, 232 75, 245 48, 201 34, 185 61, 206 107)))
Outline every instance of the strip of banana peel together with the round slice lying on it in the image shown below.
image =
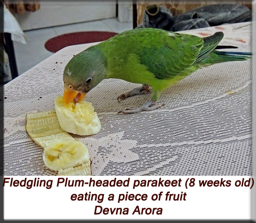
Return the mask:
POLYGON ((46 167, 66 176, 91 175, 88 149, 61 129, 55 110, 26 114, 25 130, 44 148, 46 167))

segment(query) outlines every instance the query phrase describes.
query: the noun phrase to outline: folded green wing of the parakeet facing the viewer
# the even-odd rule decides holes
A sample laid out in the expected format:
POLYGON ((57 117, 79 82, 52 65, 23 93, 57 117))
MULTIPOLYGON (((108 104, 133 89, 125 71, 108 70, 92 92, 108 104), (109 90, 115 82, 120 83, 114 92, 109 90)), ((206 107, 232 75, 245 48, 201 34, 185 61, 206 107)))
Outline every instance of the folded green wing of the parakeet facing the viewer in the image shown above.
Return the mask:
POLYGON ((166 31, 150 42, 154 43, 145 45, 143 51, 138 50, 136 54, 148 71, 159 79, 176 76, 191 67, 203 47, 202 38, 166 31))

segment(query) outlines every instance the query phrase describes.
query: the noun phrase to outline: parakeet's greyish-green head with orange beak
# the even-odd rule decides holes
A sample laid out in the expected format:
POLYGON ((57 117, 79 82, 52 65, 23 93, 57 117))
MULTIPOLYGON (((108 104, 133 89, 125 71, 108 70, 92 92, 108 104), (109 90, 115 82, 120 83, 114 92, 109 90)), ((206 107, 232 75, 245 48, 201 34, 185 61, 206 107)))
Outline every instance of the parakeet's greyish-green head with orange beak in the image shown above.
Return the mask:
POLYGON ((63 73, 65 103, 82 101, 106 75, 107 60, 99 48, 92 46, 75 55, 63 73))

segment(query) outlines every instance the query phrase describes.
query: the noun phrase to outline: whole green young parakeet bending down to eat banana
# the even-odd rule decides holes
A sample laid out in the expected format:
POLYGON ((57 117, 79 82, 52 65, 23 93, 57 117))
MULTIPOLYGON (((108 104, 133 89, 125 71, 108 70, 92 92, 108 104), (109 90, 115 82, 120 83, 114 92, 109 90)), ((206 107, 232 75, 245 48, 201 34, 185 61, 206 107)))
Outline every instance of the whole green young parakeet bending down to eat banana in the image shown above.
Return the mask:
POLYGON ((217 51, 215 48, 222 38, 222 32, 200 38, 156 28, 124 31, 87 48, 67 63, 63 74, 64 100, 80 102, 100 81, 119 78, 143 84, 119 95, 119 102, 152 91, 151 99, 144 105, 119 113, 160 108, 163 103, 157 101, 161 92, 197 69, 219 62, 246 60, 251 55, 217 51))

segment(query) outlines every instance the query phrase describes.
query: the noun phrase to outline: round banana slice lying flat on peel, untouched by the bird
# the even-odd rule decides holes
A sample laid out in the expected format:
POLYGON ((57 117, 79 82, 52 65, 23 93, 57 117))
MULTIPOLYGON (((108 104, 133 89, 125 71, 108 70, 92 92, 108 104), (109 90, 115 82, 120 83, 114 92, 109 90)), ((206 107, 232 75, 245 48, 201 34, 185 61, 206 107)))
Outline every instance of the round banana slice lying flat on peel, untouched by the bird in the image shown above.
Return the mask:
POLYGON ((45 147, 43 161, 46 167, 58 171, 83 163, 90 163, 90 157, 87 148, 82 142, 57 140, 45 147))

